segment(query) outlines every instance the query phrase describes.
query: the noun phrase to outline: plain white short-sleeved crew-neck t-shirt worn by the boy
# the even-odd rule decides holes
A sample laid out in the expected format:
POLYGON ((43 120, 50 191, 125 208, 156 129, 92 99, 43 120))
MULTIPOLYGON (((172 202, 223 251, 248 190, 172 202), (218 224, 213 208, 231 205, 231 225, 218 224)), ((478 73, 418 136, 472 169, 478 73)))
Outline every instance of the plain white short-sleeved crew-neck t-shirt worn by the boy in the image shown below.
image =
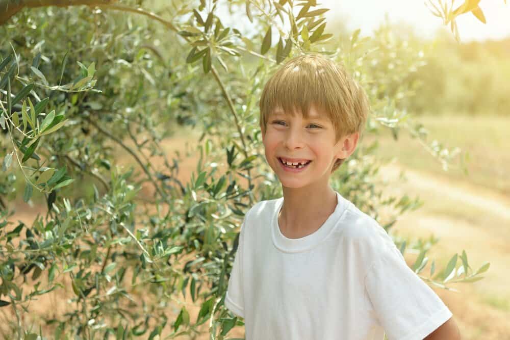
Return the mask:
POLYGON ((286 238, 283 197, 246 214, 225 297, 246 340, 423 339, 452 313, 386 231, 337 192, 314 233, 286 238))

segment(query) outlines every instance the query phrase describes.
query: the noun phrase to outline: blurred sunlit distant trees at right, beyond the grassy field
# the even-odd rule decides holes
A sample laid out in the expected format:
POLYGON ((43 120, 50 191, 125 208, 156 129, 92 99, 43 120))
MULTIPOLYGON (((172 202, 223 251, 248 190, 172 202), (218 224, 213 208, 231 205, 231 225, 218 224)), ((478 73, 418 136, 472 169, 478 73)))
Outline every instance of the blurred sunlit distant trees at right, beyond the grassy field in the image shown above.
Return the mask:
POLYGON ((419 96, 410 102, 416 113, 506 115, 510 108, 510 39, 457 44, 439 36, 414 74, 419 96))

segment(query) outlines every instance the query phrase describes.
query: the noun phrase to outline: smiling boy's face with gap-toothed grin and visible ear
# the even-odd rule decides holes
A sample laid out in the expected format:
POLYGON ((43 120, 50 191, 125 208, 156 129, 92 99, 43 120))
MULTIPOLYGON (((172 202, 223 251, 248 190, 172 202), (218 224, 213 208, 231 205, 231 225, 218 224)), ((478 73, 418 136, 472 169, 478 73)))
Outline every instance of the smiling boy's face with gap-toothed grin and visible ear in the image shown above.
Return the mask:
POLYGON ((301 114, 274 110, 269 114, 263 136, 266 160, 287 188, 327 184, 335 161, 347 158, 357 141, 358 137, 348 136, 336 142, 333 124, 314 106, 310 108, 308 119, 301 114))

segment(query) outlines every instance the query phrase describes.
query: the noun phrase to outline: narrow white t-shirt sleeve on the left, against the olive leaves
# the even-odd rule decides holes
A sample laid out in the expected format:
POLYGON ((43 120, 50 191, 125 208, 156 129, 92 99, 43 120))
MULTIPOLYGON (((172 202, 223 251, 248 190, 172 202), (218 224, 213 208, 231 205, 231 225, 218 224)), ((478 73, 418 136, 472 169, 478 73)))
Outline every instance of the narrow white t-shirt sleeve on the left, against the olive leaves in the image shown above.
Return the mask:
POLYGON ((241 232, 239 234, 239 244, 237 246, 234 265, 228 279, 228 287, 225 296, 225 306, 235 315, 244 318, 244 299, 243 299, 243 234, 246 219, 241 224, 241 232))

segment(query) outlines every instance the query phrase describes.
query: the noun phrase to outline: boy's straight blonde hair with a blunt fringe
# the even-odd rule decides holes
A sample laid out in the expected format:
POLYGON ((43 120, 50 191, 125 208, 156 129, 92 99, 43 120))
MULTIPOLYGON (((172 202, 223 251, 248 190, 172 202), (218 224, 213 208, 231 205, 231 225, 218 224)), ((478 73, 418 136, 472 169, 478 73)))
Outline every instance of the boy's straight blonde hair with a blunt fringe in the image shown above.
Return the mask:
MULTIPOLYGON (((260 127, 265 135, 269 114, 282 109, 308 118, 313 105, 324 112, 340 138, 363 133, 370 111, 368 98, 361 86, 345 69, 321 55, 307 54, 290 59, 266 83, 260 98, 260 127)), ((342 163, 338 159, 335 171, 342 163)))

